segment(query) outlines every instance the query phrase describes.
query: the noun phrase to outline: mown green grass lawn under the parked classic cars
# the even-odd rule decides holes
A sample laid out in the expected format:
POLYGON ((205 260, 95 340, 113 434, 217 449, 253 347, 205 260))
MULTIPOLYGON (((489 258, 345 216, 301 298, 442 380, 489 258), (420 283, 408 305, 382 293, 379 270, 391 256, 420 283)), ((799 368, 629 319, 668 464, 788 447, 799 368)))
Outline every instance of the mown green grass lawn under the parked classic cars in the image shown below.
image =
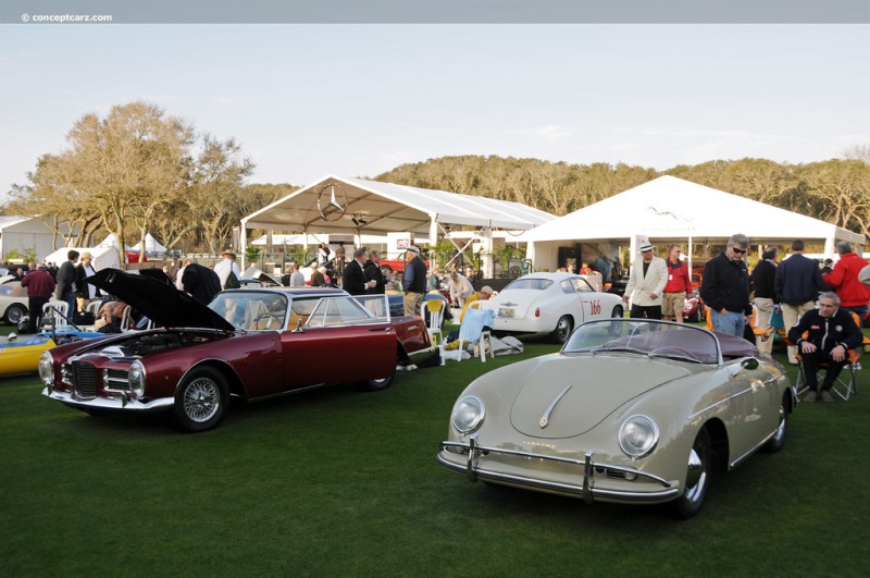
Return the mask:
MULTIPOLYGON (((3 331, 5 332, 5 331, 3 331)), ((687 521, 473 484, 435 455, 484 371, 557 351, 234 406, 215 431, 95 418, 0 381, 0 573, 20 576, 866 576, 870 360, 687 521), (865 460, 868 460, 866 464, 865 460)), ((782 356, 784 357, 784 356, 782 356)), ((793 371, 794 373, 794 371, 793 371)))

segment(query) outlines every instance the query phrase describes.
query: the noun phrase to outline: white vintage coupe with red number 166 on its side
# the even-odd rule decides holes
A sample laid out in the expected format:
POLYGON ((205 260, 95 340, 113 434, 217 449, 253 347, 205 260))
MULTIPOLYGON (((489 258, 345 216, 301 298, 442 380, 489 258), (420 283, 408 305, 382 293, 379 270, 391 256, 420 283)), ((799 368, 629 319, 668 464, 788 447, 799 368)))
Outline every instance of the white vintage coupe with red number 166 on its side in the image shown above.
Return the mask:
POLYGON ((595 291, 585 275, 531 273, 513 281, 497 296, 482 302, 495 311, 494 331, 538 333, 549 331, 564 343, 571 331, 585 321, 623 317, 618 295, 595 291))

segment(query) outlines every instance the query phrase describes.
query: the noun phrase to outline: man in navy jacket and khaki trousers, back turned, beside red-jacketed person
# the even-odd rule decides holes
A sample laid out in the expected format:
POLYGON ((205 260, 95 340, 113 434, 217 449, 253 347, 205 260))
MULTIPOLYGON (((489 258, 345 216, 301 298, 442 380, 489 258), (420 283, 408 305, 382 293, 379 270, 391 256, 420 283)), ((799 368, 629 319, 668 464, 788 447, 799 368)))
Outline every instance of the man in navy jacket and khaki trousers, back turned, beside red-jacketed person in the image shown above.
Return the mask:
MULTIPOLYGON (((773 292, 782 305, 782 322, 785 331, 790 331, 800 316, 816 309, 816 299, 824 291, 822 273, 816 259, 804 257, 804 241, 792 242, 792 255, 783 259, 776 267, 773 278, 773 292)), ((788 346, 788 362, 797 365, 797 348, 788 346)))

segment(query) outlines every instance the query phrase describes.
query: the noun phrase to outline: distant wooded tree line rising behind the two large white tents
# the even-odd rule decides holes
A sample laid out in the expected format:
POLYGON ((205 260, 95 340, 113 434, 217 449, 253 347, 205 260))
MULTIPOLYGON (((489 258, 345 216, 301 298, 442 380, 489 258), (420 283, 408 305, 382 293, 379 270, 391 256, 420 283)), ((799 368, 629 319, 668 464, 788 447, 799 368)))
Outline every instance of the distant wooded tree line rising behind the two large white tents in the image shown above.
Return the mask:
MULTIPOLYGON (((522 202, 567 214, 662 175, 725 190, 870 236, 870 147, 806 164, 714 160, 656 171, 512 157, 443 157, 402 164, 377 181, 522 202)), ((698 199, 703 202, 704 199, 698 199)))

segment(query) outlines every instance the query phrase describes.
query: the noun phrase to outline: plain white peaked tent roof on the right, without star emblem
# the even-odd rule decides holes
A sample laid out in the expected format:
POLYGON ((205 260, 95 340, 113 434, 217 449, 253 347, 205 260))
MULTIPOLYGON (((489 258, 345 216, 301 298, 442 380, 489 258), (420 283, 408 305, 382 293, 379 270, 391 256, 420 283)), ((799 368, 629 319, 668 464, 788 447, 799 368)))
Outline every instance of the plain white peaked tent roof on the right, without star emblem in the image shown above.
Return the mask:
POLYGON ((698 185, 660 176, 524 233, 521 241, 632 238, 726 239, 743 233, 753 243, 772 239, 848 241, 863 235, 811 217, 698 185))

